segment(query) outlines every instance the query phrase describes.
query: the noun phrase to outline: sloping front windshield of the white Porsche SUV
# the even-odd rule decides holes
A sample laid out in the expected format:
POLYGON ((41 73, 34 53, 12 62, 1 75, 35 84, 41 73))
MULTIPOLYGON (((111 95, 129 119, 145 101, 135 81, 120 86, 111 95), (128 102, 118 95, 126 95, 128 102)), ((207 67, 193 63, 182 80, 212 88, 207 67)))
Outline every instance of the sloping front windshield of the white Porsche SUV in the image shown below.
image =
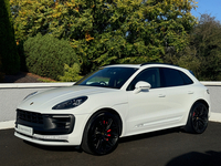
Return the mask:
POLYGON ((134 68, 103 68, 80 80, 75 85, 120 89, 136 71, 134 68))

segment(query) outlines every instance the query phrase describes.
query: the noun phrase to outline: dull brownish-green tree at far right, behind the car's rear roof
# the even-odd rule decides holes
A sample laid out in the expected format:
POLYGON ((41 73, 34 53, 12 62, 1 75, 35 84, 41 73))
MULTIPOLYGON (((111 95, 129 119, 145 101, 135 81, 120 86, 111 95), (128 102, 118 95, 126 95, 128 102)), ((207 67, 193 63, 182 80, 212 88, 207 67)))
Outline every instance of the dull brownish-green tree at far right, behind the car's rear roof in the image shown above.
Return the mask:
POLYGON ((221 80, 221 23, 214 17, 201 14, 189 41, 179 53, 167 51, 165 62, 193 71, 199 80, 221 80))

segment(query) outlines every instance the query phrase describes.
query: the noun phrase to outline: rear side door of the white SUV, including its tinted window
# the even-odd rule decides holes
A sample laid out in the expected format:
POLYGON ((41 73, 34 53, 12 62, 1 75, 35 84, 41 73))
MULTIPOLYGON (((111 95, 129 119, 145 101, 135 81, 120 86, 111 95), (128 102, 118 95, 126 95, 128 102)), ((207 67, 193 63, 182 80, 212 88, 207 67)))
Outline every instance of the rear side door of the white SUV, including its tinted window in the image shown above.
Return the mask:
POLYGON ((161 85, 166 90, 169 105, 166 110, 168 125, 182 124, 194 94, 193 82, 187 74, 176 69, 160 68, 160 73, 161 85))

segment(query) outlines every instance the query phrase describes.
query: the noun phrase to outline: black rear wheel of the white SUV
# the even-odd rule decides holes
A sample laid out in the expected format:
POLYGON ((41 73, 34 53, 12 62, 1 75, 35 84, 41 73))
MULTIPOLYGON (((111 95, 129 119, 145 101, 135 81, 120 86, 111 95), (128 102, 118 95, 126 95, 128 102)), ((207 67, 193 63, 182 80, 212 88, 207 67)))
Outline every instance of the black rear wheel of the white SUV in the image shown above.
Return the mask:
POLYGON ((208 107, 202 103, 194 103, 190 110, 185 131, 194 134, 202 134, 208 126, 208 107))

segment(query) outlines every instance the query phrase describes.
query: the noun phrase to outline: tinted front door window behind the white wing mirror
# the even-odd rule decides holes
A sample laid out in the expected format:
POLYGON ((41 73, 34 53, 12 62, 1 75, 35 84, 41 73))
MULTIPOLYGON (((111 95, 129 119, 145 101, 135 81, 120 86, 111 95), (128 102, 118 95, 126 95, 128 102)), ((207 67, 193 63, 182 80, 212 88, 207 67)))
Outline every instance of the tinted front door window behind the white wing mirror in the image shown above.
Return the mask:
POLYGON ((148 82, 151 85, 151 89, 160 87, 160 75, 158 68, 151 68, 141 71, 128 85, 127 91, 135 90, 135 85, 139 81, 148 82))

